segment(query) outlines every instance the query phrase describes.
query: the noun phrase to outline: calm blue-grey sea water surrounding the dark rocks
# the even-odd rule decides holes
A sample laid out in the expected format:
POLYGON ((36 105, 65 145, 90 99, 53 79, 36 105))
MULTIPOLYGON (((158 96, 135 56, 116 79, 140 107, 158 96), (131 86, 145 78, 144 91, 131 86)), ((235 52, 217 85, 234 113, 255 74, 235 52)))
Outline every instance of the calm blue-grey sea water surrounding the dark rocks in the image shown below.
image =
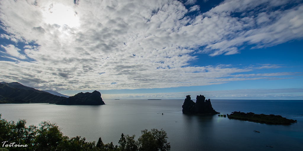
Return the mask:
POLYGON ((26 119, 27 126, 41 121, 55 122, 64 135, 82 136, 87 141, 98 141, 101 137, 104 143, 118 144, 121 133, 135 134, 138 139, 141 130, 163 128, 172 151, 303 150, 303 100, 211 100, 213 108, 221 114, 233 111, 275 114, 298 121, 292 125, 185 115, 184 100, 105 99, 104 102, 100 106, 0 104, 0 113, 9 121, 26 119))

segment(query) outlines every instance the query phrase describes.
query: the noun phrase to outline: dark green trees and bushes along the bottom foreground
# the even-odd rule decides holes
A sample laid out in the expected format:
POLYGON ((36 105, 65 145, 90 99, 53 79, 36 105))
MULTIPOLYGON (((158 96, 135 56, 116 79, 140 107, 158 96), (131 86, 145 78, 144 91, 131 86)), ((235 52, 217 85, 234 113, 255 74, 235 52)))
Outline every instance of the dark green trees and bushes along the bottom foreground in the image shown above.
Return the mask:
POLYGON ((8 122, 0 114, 0 150, 9 151, 169 151, 167 133, 164 130, 142 130, 142 135, 135 140, 135 135, 122 133, 119 145, 104 144, 101 137, 98 142, 87 142, 81 136, 64 136, 55 123, 43 121, 39 127, 30 125, 25 127, 26 120, 8 122), (14 145, 15 144, 15 145, 14 145), (5 145, 5 146, 4 146, 5 145), (16 146, 17 145, 17 146, 16 146), (19 145, 19 146, 18 146, 19 145), (20 147, 22 146, 22 147, 20 147), (26 146, 26 147, 24 147, 26 146))

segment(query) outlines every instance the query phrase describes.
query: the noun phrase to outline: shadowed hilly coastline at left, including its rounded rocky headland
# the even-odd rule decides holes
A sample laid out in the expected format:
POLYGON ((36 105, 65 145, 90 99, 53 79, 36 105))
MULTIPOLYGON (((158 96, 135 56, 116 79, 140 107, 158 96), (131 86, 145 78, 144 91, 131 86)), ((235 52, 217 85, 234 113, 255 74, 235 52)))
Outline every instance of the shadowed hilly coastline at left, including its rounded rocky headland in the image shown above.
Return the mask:
MULTIPOLYGON (((58 93, 59 94, 59 93, 58 93)), ((80 92, 71 97, 53 95, 49 92, 40 91, 22 85, 18 82, 0 83, 0 104, 1 103, 50 103, 60 105, 103 105, 101 93, 80 92)))

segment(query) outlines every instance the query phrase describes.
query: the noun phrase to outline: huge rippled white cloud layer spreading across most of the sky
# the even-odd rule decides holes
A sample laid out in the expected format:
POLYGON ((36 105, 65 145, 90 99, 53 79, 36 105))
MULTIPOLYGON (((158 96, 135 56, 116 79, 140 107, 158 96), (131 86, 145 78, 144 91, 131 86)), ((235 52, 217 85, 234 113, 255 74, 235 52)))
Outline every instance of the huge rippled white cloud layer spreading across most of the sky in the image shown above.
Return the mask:
MULTIPOLYGON (((7 32, 1 38, 38 46, 24 47, 24 53, 35 61, 0 61, 0 76, 41 89, 166 88, 275 79, 261 75, 229 78, 255 68, 193 67, 189 61, 196 59, 192 54, 197 52, 232 55, 244 43, 261 48, 303 35, 301 4, 272 10, 293 1, 229 0, 195 18, 186 14, 198 10, 196 6, 187 10, 173 0, 90 0, 79 1, 79 5, 60 0, 36 2, 1 1, 0 20, 7 32), (265 4, 268 7, 258 8, 265 4), (64 8, 62 16, 75 17, 75 24, 51 16, 50 11, 55 14, 60 8, 64 8), (246 17, 231 15, 257 8, 259 11, 246 17), (205 49, 199 51, 200 47, 205 49)), ((15 57, 26 57, 17 48, 12 50, 15 57)))

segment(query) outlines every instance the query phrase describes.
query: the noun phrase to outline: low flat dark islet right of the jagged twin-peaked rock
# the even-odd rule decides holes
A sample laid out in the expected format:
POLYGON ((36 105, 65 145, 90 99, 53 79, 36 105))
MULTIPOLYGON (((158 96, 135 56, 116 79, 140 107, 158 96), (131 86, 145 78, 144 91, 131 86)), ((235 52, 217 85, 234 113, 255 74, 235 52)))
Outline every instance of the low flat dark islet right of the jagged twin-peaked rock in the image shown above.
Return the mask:
POLYGON ((255 114, 255 113, 243 113, 243 112, 231 112, 232 114, 228 115, 229 119, 238 119, 238 120, 248 120, 253 122, 265 123, 265 124, 285 124, 290 125, 291 123, 297 122, 297 120, 287 119, 280 115, 265 115, 265 114, 255 114))

